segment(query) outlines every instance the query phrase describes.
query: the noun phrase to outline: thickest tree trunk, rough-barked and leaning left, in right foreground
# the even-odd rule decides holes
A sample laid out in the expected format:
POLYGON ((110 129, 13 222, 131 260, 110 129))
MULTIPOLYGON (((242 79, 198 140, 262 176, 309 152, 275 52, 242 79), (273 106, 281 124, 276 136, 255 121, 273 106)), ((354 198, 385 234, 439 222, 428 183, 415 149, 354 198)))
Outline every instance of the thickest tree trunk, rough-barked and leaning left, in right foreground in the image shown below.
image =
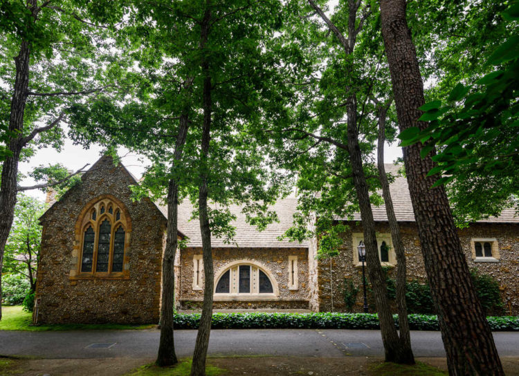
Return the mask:
MULTIPOLYGON (((405 0, 381 0, 381 30, 392 79, 399 129, 425 129, 417 121, 424 104, 415 46, 406 21, 405 0)), ((421 250, 438 312, 450 375, 503 375, 489 323, 468 272, 444 187, 431 188, 438 176, 431 156, 422 159, 418 143, 403 148, 421 250)))

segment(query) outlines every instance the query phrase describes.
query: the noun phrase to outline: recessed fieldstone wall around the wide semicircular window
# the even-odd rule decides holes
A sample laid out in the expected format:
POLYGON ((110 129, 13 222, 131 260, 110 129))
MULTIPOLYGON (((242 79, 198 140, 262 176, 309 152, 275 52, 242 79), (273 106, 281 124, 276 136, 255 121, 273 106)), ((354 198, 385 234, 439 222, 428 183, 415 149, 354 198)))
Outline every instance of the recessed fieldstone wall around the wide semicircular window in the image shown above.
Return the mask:
MULTIPOLYGON (((177 299, 182 309, 201 306, 203 300, 203 269, 200 288, 193 286, 193 258, 202 254, 199 247, 188 247, 181 251, 180 285, 177 299)), ((277 299, 224 299, 217 297, 213 308, 283 308, 308 309, 309 307, 309 262, 307 248, 213 248, 212 258, 215 278, 226 269, 229 263, 239 260, 253 261, 271 273, 277 283, 277 299), (298 256, 298 290, 289 289, 289 256, 298 256)), ((216 283, 216 281, 215 281, 216 283)))

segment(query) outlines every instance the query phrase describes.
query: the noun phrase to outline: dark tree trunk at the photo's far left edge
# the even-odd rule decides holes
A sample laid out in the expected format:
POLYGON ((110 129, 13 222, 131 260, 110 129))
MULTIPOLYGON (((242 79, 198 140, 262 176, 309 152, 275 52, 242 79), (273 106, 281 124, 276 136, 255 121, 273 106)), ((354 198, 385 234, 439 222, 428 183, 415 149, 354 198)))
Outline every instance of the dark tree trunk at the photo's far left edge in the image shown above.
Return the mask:
MULTIPOLYGON (((30 1, 30 3, 33 1, 30 1)), ((16 79, 15 88, 12 93, 9 119, 9 130, 19 132, 19 135, 12 138, 8 143, 8 149, 12 152, 12 156, 6 158, 3 162, 0 184, 0 301, 2 296, 1 271, 3 252, 6 248, 12 220, 15 217, 18 161, 21 148, 23 147, 21 135, 24 129, 24 113, 29 84, 29 57, 29 44, 26 41, 22 41, 20 52, 18 56, 15 57, 16 79)), ((2 311, 0 305, 0 320, 1 318, 2 311)))

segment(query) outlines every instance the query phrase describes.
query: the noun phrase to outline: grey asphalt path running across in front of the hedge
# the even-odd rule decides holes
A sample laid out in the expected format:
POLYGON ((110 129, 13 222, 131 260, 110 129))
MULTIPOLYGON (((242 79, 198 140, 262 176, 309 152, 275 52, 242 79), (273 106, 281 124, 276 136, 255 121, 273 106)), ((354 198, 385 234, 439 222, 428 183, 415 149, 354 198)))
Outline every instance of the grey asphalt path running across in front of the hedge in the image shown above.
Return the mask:
MULTIPOLYGON (((519 332, 493 333, 501 356, 519 356, 519 332)), ((176 353, 192 355, 196 330, 175 332, 176 353)), ((46 358, 154 357, 159 330, 82 330, 64 332, 0 331, 1 355, 46 358), (93 344, 109 348, 90 347, 93 344)), ((417 357, 444 357, 439 332, 411 332, 417 357)), ((376 330, 248 329, 212 330, 210 355, 383 356, 376 330)))

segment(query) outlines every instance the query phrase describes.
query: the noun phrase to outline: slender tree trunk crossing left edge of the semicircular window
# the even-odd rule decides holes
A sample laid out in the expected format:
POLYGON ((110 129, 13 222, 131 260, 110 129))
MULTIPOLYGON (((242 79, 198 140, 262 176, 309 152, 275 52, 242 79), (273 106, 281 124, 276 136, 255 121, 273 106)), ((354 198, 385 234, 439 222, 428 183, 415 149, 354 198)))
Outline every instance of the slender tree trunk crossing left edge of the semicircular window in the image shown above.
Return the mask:
MULTIPOLYGON (((206 10, 202 21, 201 47, 203 48, 208 39, 209 22, 211 11, 206 10)), ((207 207, 208 198, 208 154, 210 141, 210 128, 212 116, 211 103, 211 77, 209 75, 209 64, 203 60, 201 68, 203 79, 203 126, 200 162, 200 186, 199 186, 199 219, 202 237, 203 252, 203 303, 200 326, 197 334, 197 343, 194 346, 193 364, 191 376, 206 375, 206 357, 209 347, 209 335, 212 321, 212 294, 214 290, 214 271, 212 266, 211 230, 209 227, 209 216, 207 207)))

